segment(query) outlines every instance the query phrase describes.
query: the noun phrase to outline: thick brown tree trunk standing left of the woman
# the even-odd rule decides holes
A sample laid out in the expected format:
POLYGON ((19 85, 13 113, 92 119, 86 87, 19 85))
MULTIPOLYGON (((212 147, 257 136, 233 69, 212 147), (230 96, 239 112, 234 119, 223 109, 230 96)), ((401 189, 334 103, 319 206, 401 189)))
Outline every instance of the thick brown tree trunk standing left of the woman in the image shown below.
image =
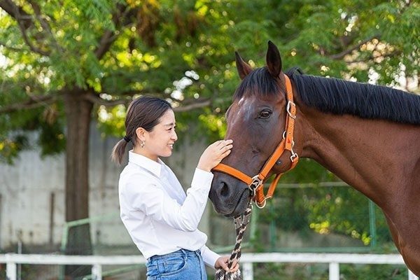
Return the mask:
MULTIPOLYGON (((89 217, 89 131, 93 105, 83 90, 64 94, 66 113, 66 222, 89 217)), ((90 225, 69 228, 66 254, 91 255, 90 225)), ((91 273, 90 266, 66 266, 71 278, 91 273)))

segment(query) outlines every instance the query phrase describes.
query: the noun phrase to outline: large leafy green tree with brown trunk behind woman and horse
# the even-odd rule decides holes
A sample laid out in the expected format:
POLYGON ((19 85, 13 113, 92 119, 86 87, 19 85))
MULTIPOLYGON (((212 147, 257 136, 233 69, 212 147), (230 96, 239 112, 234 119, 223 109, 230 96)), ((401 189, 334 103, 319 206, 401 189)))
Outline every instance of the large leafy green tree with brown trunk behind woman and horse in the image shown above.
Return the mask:
MULTIPOLYGON (((417 1, 0 0, 0 8, 0 153, 13 162, 31 146, 27 130, 40 132, 43 155, 65 149, 66 221, 88 216, 92 120, 122 136, 127 104, 151 94, 172 102, 181 130, 198 119, 221 137, 239 83, 235 50, 262 66, 271 39, 286 67, 384 85, 405 77, 407 90, 419 90, 417 1)), ((90 253, 88 232, 69 240, 69 253, 90 253)))

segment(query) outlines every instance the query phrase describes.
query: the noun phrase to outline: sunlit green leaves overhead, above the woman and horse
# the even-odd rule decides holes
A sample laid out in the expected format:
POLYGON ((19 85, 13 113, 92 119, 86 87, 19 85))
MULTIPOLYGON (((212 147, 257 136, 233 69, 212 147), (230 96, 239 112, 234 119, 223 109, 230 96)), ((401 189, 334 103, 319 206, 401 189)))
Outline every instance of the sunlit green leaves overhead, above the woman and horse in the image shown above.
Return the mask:
MULTIPOLYGON (((20 4, 33 22, 27 40, 47 55, 34 51, 18 21, 1 12, 0 53, 6 57, 1 67, 7 73, 1 78, 1 107, 29 96, 59 97, 74 86, 127 103, 136 94, 165 97, 174 105, 204 98, 212 106, 198 119, 204 132, 220 138, 225 127, 215 124, 224 121, 239 84, 235 50, 251 65, 262 66, 271 39, 279 45, 284 68, 300 66, 306 73, 360 81, 376 71, 379 83, 388 85, 396 83, 402 65, 407 77, 416 76, 419 66, 416 1, 40 1, 42 20, 35 6, 20 4), (98 59, 95 50, 106 31, 115 34, 111 48, 98 59), (183 78, 191 83, 174 96, 174 81, 183 78)), ((124 134, 120 113, 97 107, 106 134, 124 134)), ((183 123, 197 120, 197 113, 180 116, 183 123)))

